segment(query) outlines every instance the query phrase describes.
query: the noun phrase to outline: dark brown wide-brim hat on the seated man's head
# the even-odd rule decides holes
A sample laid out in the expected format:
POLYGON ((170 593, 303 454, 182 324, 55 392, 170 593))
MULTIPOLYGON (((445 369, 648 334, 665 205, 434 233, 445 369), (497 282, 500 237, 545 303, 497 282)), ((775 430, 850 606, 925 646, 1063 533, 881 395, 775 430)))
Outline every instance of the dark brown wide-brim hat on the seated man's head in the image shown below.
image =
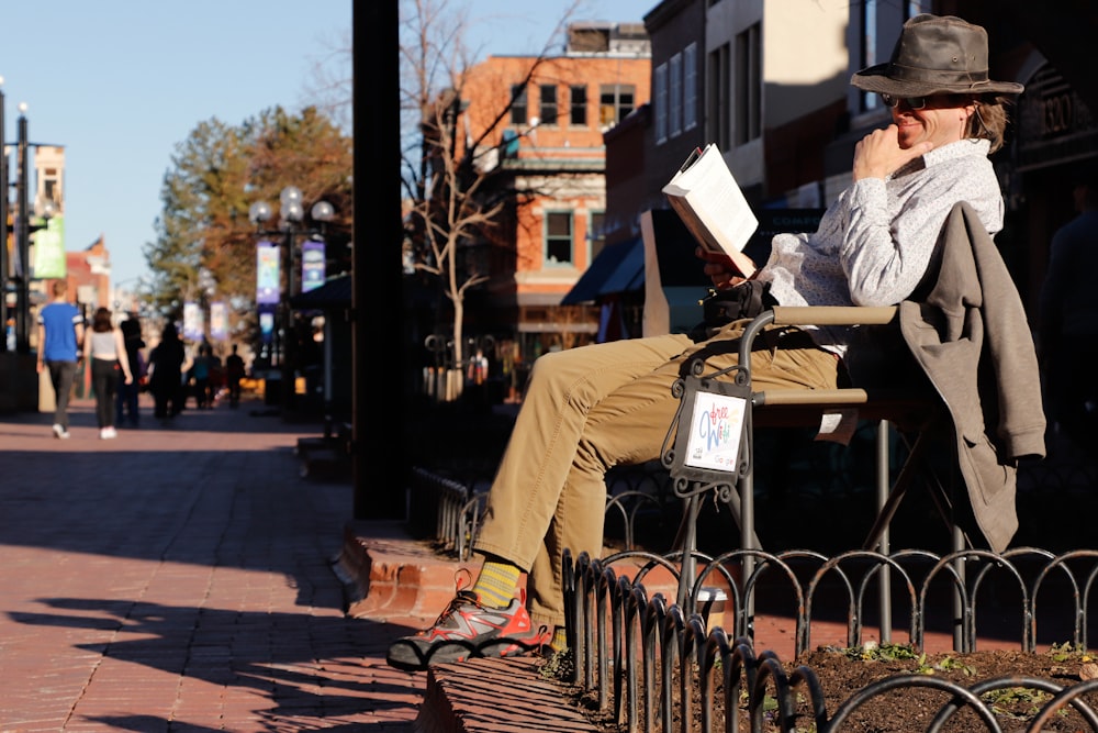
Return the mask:
POLYGON ((987 31, 953 15, 923 13, 904 23, 892 58, 851 77, 859 89, 893 97, 1019 95, 1015 81, 987 76, 987 31))

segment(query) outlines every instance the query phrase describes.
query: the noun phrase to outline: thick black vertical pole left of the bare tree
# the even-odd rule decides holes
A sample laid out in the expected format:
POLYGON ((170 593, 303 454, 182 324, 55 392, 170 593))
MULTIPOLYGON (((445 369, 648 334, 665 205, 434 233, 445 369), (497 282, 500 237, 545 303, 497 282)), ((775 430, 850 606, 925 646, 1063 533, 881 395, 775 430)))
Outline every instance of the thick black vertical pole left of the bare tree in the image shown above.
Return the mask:
POLYGON ((351 249, 354 509, 355 519, 402 519, 411 467, 404 452, 404 410, 392 409, 389 401, 406 382, 408 368, 403 358, 403 298, 393 298, 402 291, 401 191, 385 185, 367 192, 372 188, 368 181, 395 182, 401 175, 400 2, 359 2, 352 14, 356 11, 363 16, 351 23, 355 140, 361 143, 355 146, 351 249), (379 346, 386 358, 377 358, 379 346), (379 460, 395 468, 395 480, 377 480, 379 460))

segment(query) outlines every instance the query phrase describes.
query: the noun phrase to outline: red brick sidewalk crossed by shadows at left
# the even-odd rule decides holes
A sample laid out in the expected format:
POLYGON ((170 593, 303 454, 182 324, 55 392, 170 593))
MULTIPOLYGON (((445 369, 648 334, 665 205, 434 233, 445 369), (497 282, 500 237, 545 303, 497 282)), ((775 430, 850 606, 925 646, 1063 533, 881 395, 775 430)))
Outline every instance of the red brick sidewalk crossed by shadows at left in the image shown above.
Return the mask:
POLYGON ((0 732, 411 730, 426 674, 384 653, 423 620, 343 613, 350 482, 262 412, 0 415, 0 732))

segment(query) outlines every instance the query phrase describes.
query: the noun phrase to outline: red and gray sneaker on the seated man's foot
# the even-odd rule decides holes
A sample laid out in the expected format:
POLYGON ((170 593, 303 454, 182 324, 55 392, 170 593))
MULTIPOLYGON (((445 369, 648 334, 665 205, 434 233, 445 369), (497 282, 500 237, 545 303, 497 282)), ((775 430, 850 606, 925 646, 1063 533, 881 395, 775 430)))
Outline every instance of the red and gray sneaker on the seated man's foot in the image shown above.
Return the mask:
POLYGON ((397 638, 385 657, 390 666, 408 671, 470 657, 509 657, 539 651, 552 640, 545 626, 534 630, 526 612, 525 591, 504 609, 483 606, 471 590, 462 590, 430 629, 397 638))

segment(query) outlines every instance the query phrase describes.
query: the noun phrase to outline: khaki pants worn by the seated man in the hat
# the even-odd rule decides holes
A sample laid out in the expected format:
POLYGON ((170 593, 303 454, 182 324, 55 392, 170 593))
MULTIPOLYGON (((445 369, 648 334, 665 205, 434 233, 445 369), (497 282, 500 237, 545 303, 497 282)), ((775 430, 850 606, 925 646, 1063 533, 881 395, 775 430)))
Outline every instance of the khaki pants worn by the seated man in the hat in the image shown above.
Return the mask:
MULTIPOLYGON (((744 325, 729 324, 701 344, 671 334, 550 353, 535 362, 475 545, 529 571, 535 626, 564 623, 563 548, 573 557, 602 554, 607 469, 660 457, 679 407, 671 385, 680 368, 701 349, 706 371, 736 364, 744 325)), ((838 359, 802 331, 770 329, 755 346, 757 389, 837 385, 838 359)))

